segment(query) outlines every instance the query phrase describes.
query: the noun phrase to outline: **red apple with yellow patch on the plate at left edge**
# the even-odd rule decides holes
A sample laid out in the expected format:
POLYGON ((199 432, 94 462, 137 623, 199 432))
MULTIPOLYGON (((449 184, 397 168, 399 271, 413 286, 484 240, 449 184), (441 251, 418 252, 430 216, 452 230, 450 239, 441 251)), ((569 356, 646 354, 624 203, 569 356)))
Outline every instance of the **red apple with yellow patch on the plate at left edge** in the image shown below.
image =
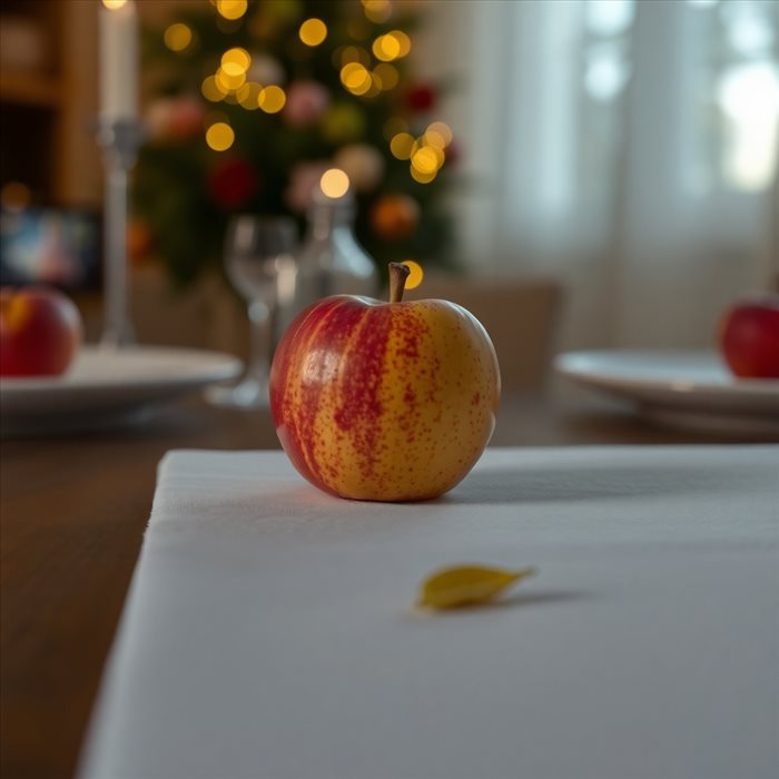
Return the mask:
POLYGON ((81 344, 72 300, 48 287, 0 290, 0 375, 56 376, 81 344))

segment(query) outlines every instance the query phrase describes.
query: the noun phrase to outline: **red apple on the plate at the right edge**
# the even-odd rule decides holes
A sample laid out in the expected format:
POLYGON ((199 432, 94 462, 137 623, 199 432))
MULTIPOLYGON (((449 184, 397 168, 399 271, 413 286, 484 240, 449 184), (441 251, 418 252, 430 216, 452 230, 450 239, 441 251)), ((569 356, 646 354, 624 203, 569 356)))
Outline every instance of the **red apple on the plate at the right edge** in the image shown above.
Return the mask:
POLYGON ((779 295, 743 298, 720 321, 719 345, 741 378, 779 378, 779 295))

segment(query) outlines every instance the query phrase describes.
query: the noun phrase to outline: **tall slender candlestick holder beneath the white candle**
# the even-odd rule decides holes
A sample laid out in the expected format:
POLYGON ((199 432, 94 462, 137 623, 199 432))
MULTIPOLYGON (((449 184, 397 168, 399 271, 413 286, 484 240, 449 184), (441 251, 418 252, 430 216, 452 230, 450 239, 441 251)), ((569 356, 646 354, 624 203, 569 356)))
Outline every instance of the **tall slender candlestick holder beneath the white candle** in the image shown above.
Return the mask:
POLYGON ((145 135, 144 126, 136 119, 100 118, 96 125, 106 180, 103 329, 100 344, 114 348, 134 341, 127 285, 128 183, 145 135))

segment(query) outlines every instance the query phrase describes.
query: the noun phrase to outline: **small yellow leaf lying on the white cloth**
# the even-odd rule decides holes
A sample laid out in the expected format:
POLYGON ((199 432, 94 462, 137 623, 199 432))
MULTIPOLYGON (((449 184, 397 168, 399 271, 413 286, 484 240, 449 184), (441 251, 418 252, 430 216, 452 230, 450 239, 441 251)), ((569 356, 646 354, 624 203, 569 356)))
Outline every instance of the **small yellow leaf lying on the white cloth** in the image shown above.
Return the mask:
POLYGON ((485 565, 447 568, 422 582, 417 605, 423 609, 456 609, 484 603, 534 573, 533 568, 519 571, 485 565))

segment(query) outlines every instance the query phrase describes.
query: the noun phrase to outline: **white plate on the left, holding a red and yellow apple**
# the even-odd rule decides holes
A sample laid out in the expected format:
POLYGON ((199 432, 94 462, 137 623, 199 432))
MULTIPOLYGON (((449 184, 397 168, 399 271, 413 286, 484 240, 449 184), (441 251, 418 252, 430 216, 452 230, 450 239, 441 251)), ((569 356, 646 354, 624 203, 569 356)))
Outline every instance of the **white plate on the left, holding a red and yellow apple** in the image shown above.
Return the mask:
POLYGON ((100 428, 137 421, 160 402, 235 378, 236 357, 217 352, 85 346, 63 376, 0 379, 3 435, 100 428))

